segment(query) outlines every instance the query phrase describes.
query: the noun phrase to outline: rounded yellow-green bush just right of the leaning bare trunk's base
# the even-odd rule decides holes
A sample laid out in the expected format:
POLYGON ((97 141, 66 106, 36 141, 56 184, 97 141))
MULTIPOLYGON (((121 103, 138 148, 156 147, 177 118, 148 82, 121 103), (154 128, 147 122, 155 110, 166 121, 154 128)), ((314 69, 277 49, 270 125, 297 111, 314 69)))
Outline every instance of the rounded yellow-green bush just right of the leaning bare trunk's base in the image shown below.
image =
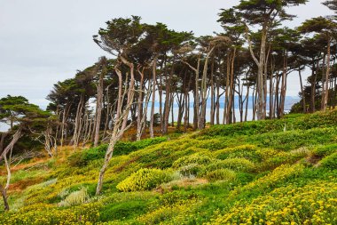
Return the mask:
POLYGON ((120 191, 151 190, 171 180, 168 172, 159 169, 140 169, 117 185, 120 191))

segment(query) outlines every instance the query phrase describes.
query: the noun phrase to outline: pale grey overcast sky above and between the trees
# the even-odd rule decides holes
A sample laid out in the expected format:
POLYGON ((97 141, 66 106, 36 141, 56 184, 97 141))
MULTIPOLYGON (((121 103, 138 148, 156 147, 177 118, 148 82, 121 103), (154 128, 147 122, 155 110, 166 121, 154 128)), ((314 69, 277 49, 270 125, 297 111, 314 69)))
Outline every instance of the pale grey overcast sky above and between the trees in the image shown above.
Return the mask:
MULTIPOLYGON (((221 8, 239 0, 0 0, 0 98, 23 95, 45 107, 52 84, 73 77, 76 69, 106 55, 92 41, 106 20, 138 15, 146 23, 163 22, 197 36, 221 31, 221 8), (228 3, 230 2, 230 3, 228 3)), ((298 18, 286 26, 327 15, 320 3, 290 9, 298 18)), ((299 80, 289 77, 287 94, 297 96, 299 80)))

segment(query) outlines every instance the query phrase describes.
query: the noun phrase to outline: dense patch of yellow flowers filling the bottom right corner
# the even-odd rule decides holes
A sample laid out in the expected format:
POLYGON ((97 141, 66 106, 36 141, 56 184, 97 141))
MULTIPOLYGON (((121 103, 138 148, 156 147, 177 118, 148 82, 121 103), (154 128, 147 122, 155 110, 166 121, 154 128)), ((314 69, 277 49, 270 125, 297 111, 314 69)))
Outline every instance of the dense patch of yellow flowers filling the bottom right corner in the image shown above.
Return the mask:
POLYGON ((250 204, 238 203, 230 212, 209 224, 336 224, 335 182, 315 181, 303 188, 292 185, 257 197, 250 204))

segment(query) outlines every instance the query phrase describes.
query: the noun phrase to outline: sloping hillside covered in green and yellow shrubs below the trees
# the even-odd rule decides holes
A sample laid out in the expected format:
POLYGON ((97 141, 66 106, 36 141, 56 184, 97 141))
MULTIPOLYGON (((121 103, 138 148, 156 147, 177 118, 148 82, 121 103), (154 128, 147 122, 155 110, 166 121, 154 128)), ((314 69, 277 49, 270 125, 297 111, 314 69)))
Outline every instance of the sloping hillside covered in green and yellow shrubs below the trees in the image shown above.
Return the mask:
POLYGON ((336 110, 121 142, 95 197, 105 149, 18 165, 0 224, 337 224, 336 110))

